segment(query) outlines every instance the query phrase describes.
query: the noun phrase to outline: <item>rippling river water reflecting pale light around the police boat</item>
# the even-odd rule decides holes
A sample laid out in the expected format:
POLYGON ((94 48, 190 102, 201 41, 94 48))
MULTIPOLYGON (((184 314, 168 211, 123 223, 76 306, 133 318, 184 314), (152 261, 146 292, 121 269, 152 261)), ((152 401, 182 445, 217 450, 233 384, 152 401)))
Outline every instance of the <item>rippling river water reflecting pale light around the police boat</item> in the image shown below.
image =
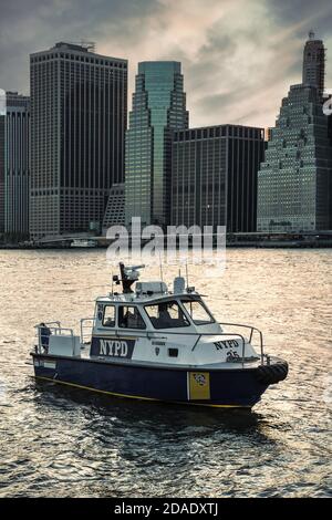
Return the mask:
POLYGON ((37 384, 33 324, 92 314, 105 251, 0 251, 0 496, 331 495, 331 250, 256 249, 230 249, 211 287, 190 269, 220 320, 262 329, 290 363, 252 412, 225 412, 37 384))

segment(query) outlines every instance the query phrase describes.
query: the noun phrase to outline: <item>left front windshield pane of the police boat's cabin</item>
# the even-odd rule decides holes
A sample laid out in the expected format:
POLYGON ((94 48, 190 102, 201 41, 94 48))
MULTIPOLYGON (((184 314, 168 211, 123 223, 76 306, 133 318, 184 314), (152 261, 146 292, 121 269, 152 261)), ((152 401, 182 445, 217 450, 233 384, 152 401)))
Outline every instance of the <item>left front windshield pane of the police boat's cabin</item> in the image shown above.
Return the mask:
POLYGON ((189 322, 176 301, 145 305, 148 318, 155 329, 188 326, 189 322))

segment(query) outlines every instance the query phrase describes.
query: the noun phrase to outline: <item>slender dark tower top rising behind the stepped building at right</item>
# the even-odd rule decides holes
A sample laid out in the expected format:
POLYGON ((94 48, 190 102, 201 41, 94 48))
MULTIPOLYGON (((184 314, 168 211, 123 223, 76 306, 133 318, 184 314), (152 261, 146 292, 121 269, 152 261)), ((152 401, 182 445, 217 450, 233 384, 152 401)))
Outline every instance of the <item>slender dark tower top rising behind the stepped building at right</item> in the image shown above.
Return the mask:
POLYGON ((315 40, 314 32, 310 31, 309 40, 303 51, 302 84, 315 86, 319 94, 324 91, 325 77, 325 49, 322 40, 315 40))

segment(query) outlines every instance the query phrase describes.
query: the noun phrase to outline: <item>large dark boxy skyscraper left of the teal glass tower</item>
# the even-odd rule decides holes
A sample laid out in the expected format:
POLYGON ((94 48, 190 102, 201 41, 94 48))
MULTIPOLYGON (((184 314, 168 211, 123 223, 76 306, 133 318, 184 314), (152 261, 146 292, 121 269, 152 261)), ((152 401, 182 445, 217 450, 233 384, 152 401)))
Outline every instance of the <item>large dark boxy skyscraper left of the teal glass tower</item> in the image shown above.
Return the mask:
POLYGON ((81 44, 31 54, 32 238, 101 227, 124 180, 127 61, 81 44))

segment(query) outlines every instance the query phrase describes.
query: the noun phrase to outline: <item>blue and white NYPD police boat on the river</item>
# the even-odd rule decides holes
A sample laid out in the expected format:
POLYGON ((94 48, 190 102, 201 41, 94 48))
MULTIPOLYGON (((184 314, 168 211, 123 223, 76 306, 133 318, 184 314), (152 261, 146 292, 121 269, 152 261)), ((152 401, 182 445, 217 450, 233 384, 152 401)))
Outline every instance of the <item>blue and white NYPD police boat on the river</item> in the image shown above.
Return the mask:
POLYGON ((120 263, 121 277, 96 299, 94 316, 81 320, 80 335, 60 322, 35 325, 38 379, 120 397, 250 408, 287 377, 287 362, 263 352, 258 329, 217 322, 180 275, 172 291, 164 281, 139 282, 142 268, 120 263))

